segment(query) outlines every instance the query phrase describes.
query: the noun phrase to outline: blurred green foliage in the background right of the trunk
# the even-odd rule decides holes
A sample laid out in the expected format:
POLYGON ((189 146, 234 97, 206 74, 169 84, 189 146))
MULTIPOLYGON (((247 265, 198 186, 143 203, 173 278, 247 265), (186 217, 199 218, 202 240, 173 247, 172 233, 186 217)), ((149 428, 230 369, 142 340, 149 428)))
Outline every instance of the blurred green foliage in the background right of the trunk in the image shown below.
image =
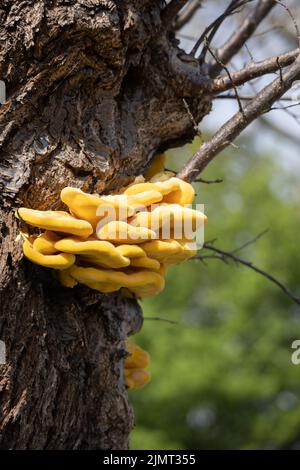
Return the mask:
MULTIPOLYGON (((179 169, 197 145, 169 153, 167 167, 179 169)), ((196 184, 205 239, 232 250, 269 229, 239 256, 300 296, 299 175, 249 148, 224 152, 203 173, 222 184, 196 184)), ((134 340, 151 355, 152 381, 130 394, 131 448, 300 448, 300 365, 291 362, 300 307, 282 291, 246 267, 190 260, 143 309, 134 340)))

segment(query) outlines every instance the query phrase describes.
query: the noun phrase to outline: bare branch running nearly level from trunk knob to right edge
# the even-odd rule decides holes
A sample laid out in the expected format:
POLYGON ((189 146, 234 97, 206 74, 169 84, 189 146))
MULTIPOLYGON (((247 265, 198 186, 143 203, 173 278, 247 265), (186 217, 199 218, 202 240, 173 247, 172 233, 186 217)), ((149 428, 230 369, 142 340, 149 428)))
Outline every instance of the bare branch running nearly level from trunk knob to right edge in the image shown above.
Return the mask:
POLYGON ((268 73, 276 72, 279 68, 287 67, 292 64, 298 57, 300 49, 286 52, 279 56, 270 57, 269 59, 260 62, 250 62, 243 69, 237 72, 231 72, 231 77, 215 78, 211 81, 211 90, 213 93, 220 93, 234 86, 243 85, 244 83, 253 80, 254 78, 261 77, 268 73))

